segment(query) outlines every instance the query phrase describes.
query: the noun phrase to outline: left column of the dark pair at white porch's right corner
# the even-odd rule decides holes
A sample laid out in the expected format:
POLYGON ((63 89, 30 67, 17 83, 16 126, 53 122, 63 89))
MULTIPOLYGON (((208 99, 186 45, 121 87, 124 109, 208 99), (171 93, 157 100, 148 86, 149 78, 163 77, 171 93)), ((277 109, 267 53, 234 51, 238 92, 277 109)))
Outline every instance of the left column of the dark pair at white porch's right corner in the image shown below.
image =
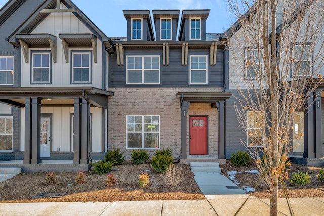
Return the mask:
POLYGON ((80 164, 80 98, 74 99, 74 120, 73 120, 73 164, 80 164))

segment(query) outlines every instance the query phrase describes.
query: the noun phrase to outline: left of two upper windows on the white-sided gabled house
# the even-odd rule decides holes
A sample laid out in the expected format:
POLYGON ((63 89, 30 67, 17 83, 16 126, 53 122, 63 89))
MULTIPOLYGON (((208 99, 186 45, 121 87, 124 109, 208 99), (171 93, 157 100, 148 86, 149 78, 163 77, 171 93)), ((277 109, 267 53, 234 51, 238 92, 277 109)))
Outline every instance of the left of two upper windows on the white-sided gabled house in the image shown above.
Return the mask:
POLYGON ((51 83, 51 54, 50 52, 32 53, 31 83, 51 83))

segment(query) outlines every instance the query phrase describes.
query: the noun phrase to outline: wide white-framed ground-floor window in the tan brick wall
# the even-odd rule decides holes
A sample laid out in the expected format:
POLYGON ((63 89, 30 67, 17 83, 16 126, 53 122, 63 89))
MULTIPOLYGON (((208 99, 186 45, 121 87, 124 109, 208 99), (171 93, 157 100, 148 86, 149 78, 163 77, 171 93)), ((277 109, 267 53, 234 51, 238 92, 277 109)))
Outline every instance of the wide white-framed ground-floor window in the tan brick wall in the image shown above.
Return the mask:
POLYGON ((159 115, 128 115, 126 122, 126 147, 128 149, 160 148, 159 115))

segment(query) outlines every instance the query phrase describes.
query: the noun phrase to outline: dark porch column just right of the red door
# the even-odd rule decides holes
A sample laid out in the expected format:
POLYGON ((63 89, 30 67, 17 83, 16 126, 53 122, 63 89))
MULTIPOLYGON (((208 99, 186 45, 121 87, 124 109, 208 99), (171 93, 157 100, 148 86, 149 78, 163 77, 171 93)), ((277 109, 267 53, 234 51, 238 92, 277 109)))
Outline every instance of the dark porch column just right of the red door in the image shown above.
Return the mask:
POLYGON ((218 105, 218 158, 225 159, 225 101, 218 105))

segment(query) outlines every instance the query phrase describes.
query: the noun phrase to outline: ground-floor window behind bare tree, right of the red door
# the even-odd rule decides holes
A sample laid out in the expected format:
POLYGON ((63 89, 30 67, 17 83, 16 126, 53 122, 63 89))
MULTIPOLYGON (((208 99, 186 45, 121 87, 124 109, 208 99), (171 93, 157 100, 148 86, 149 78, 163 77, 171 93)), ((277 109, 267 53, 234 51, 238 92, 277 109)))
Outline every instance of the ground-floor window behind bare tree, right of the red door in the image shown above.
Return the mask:
POLYGON ((263 146, 261 111, 247 111, 247 146, 263 146))

